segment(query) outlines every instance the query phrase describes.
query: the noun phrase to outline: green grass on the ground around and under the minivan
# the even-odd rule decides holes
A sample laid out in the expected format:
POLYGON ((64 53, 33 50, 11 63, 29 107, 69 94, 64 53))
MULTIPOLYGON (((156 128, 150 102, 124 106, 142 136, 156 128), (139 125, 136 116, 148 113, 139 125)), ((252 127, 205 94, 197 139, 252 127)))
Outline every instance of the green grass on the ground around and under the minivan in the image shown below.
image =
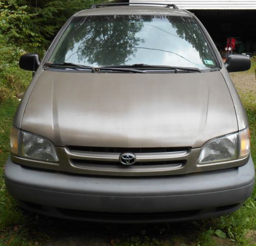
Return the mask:
MULTIPOLYGON (((252 64, 254 71, 256 62, 252 64)), ((196 222, 154 225, 108 225, 70 222, 23 213, 7 193, 4 184, 4 164, 9 155, 9 135, 12 117, 18 105, 14 96, 22 92, 31 78, 15 66, 0 74, 0 81, 7 80, 0 103, 0 245, 256 245, 256 189, 244 206, 230 215, 198 220, 196 222), (22 73, 22 74, 21 74, 22 73), (14 85, 18 81, 18 85, 14 85), (82 243, 81 243, 82 242, 82 243), (71 244, 69 244, 71 245, 71 244)), ((251 72, 249 71, 249 72, 251 72)), ((238 88, 246 109, 251 131, 251 154, 256 162, 256 97, 253 92, 238 88)))

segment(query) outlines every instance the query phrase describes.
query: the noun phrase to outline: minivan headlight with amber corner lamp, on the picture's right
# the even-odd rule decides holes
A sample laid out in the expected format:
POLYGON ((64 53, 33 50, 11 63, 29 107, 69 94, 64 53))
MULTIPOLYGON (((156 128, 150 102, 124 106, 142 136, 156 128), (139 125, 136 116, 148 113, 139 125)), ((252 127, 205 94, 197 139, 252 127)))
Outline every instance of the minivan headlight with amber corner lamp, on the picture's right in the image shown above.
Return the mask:
POLYGON ((248 156, 250 153, 249 128, 238 133, 211 139, 201 150, 199 164, 232 161, 248 156))

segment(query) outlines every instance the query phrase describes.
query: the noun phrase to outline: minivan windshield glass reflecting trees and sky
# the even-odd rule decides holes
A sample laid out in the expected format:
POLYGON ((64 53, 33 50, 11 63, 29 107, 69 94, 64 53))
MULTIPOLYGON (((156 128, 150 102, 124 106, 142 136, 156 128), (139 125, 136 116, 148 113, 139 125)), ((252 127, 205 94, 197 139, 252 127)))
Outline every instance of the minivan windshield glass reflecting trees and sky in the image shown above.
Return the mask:
POLYGON ((49 62, 89 66, 164 65, 216 67, 197 23, 168 15, 75 17, 49 62))

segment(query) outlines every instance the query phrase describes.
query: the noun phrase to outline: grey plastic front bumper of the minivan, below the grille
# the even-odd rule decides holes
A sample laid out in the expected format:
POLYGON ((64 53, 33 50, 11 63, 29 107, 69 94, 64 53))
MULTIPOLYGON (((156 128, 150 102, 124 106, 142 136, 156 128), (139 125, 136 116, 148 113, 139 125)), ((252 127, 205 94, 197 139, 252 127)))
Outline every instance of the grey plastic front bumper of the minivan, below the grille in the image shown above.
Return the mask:
POLYGON ((15 164, 5 167, 9 193, 24 208, 61 218, 167 222, 237 210, 253 190, 251 157, 240 167, 180 176, 81 176, 15 164))

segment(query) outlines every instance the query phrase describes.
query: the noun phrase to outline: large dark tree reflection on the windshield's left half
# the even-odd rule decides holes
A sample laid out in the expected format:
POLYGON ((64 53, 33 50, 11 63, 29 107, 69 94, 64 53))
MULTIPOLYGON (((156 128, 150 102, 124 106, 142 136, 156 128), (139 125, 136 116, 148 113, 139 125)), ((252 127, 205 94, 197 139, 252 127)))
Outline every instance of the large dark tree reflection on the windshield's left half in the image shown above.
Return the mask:
POLYGON ((77 62, 82 64, 125 64, 136 53, 133 47, 144 42, 136 37, 142 27, 143 21, 139 15, 126 16, 125 19, 120 16, 90 16, 79 21, 77 18, 68 37, 72 41, 62 45, 66 51, 59 52, 66 54, 66 58, 57 57, 56 60, 70 62, 75 56, 77 62))

